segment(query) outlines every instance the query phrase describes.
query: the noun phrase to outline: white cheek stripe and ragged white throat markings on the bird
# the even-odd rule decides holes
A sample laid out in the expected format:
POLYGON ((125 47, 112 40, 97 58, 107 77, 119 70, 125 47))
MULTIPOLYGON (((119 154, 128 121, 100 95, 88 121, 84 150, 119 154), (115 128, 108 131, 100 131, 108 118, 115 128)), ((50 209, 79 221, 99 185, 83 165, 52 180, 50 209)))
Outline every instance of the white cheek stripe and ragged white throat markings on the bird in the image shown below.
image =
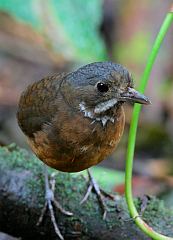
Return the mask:
POLYGON ((108 116, 108 115, 99 117, 96 114, 104 113, 108 109, 114 107, 116 105, 116 103, 117 103, 116 99, 111 99, 111 100, 105 101, 103 103, 99 103, 98 105, 96 105, 94 110, 90 110, 90 109, 87 109, 85 102, 81 102, 79 104, 79 108, 80 108, 80 111, 84 113, 85 117, 93 119, 91 124, 93 124, 96 121, 101 121, 101 123, 104 127, 106 125, 107 121, 114 123, 114 118, 111 116, 108 116))

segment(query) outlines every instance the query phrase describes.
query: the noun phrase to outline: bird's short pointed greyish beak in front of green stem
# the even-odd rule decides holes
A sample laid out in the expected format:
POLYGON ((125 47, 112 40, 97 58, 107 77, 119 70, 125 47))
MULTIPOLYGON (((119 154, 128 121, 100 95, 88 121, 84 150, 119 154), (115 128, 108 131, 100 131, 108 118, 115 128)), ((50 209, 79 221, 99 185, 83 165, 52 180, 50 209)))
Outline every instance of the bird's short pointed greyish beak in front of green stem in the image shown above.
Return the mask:
POLYGON ((120 101, 130 101, 140 104, 151 104, 149 98, 144 96, 143 94, 136 91, 134 88, 128 87, 128 90, 121 93, 120 101))

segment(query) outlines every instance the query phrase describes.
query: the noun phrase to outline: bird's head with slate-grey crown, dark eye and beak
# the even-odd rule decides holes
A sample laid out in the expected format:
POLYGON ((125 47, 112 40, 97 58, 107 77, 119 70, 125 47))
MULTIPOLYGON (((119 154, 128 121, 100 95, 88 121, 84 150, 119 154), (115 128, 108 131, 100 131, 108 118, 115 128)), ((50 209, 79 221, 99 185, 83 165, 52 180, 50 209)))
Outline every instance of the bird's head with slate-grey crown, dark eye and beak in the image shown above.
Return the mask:
POLYGON ((70 103, 96 115, 104 114, 124 102, 150 104, 146 96, 133 88, 129 71, 112 62, 83 66, 67 75, 65 85, 68 88, 65 95, 70 103))

